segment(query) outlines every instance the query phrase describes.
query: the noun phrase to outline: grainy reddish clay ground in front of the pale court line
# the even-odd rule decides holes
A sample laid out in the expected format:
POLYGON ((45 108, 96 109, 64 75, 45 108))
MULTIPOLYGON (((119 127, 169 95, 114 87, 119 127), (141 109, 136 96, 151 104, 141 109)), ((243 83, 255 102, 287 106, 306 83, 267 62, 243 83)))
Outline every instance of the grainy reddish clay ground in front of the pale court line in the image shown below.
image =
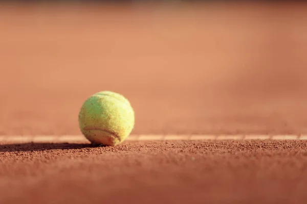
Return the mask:
POLYGON ((305 203, 307 143, 0 146, 1 203, 305 203))

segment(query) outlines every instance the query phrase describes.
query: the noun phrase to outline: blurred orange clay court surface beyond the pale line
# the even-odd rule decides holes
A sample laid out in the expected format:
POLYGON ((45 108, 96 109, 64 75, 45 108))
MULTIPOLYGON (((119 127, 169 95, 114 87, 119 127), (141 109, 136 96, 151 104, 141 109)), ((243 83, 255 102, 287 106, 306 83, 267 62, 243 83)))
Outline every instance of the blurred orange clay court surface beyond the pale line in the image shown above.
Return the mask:
POLYGON ((80 134, 91 94, 126 96, 133 134, 307 133, 303 3, 0 4, 0 135, 80 134))

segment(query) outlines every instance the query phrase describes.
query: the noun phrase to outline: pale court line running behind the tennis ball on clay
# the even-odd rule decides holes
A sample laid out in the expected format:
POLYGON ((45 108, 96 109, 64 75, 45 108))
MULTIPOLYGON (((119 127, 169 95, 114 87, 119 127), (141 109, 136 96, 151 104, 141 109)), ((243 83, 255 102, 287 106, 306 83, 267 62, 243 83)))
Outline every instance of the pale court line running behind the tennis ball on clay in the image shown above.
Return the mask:
MULTIPOLYGON (((307 135, 130 135, 126 141, 307 140, 307 135)), ((82 135, 0 135, 0 142, 88 142, 82 135)))

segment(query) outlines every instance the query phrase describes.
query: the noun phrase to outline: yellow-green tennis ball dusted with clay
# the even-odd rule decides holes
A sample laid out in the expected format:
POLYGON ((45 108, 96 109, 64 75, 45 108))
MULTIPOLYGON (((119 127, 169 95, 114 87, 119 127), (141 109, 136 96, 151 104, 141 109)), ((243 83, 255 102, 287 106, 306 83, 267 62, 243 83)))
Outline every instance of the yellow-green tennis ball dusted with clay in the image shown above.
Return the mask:
POLYGON ((82 134, 93 144, 117 145, 133 130, 134 110, 121 94, 101 91, 91 95, 79 112, 82 134))

